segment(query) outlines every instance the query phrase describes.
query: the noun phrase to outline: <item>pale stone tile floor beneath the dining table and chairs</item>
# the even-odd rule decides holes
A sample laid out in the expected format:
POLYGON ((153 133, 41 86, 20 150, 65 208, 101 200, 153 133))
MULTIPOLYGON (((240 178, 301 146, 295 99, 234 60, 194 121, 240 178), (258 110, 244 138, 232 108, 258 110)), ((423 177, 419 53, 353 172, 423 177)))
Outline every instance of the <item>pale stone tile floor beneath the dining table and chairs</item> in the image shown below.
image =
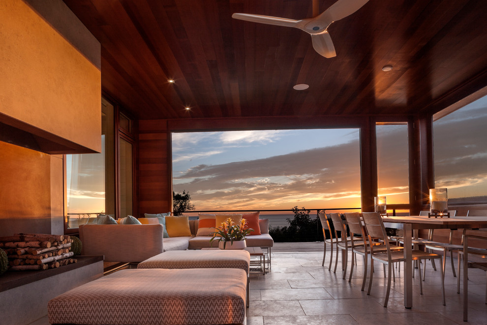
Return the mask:
MULTIPOLYGON (((485 271, 469 269, 469 322, 464 323, 462 295, 457 294, 457 278, 452 274, 450 261, 445 276, 446 306, 441 300, 440 272, 433 271, 427 262, 423 295, 416 276, 413 308, 405 309, 402 272, 396 270, 396 281, 392 282, 388 306, 384 308, 386 281, 381 267, 375 268, 372 291, 367 296, 367 286, 361 291, 364 271, 361 256, 350 283, 348 278, 342 279, 340 261, 333 273, 327 267, 329 256, 324 267, 322 258, 320 252, 273 252, 271 272, 251 274, 247 325, 487 324, 485 271)), ((44 317, 30 325, 47 324, 44 317)))

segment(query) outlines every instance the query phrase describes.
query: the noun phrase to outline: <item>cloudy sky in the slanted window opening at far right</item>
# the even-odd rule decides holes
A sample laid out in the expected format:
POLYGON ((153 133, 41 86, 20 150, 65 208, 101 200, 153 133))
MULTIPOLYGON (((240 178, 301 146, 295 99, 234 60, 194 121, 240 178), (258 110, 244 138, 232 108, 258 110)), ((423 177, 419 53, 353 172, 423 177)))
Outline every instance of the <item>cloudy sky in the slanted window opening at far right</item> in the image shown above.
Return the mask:
POLYGON ((487 96, 433 122, 435 187, 449 198, 487 195, 487 96))

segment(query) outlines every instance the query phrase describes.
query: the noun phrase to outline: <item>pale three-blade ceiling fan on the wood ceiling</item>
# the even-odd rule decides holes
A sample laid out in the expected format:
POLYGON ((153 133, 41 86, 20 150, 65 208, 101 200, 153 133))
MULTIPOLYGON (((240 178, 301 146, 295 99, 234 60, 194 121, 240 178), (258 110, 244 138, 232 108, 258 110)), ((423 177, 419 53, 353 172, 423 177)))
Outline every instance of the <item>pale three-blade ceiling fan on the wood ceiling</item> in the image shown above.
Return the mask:
POLYGON ((234 13, 232 18, 245 20, 248 22, 262 23, 268 25, 295 27, 304 30, 311 34, 313 48, 316 52, 324 57, 336 56, 335 46, 332 38, 328 33, 328 27, 337 20, 345 18, 367 3, 368 0, 338 0, 332 4, 328 9, 319 13, 319 0, 313 0, 313 17, 304 18, 301 20, 234 13))

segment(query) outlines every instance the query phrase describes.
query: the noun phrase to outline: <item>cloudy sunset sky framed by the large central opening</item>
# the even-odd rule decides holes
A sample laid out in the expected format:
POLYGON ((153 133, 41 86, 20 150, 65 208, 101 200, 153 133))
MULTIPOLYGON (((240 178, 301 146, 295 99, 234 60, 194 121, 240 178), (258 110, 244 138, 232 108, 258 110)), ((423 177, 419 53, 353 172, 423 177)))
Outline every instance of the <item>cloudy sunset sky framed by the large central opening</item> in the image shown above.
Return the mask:
POLYGON ((173 133, 172 156, 197 211, 361 206, 358 129, 173 133))

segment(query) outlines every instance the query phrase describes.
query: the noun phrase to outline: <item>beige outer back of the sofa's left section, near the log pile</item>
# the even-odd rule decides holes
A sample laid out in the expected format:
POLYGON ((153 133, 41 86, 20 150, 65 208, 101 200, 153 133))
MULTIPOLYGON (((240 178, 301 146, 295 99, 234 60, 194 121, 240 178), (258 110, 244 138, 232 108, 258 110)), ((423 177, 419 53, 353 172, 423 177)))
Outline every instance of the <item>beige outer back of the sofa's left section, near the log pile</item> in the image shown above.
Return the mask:
POLYGON ((82 255, 104 255, 105 262, 142 262, 162 253, 161 224, 80 225, 82 255))

